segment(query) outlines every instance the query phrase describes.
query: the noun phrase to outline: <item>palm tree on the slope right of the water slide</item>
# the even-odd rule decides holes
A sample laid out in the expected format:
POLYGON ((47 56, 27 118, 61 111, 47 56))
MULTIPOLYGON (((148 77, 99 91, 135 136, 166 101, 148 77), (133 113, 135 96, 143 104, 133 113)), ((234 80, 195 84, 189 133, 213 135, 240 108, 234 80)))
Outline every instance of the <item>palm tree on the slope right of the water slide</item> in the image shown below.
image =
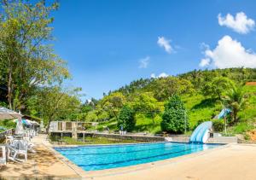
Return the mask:
POLYGON ((226 96, 224 96, 224 106, 232 110, 233 120, 237 122, 237 113, 245 107, 247 99, 242 87, 232 88, 226 96))

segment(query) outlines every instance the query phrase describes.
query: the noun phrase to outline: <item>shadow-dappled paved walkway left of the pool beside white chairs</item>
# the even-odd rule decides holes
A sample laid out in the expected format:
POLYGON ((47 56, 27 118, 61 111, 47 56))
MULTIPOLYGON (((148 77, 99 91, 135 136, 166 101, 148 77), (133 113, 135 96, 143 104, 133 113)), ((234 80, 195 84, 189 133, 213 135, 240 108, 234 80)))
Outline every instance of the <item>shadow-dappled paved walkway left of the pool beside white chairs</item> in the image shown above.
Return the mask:
POLYGON ((45 136, 35 136, 32 142, 37 145, 36 154, 28 154, 26 163, 9 162, 0 167, 0 179, 4 178, 78 178, 79 175, 62 160, 55 157, 42 143, 45 136))

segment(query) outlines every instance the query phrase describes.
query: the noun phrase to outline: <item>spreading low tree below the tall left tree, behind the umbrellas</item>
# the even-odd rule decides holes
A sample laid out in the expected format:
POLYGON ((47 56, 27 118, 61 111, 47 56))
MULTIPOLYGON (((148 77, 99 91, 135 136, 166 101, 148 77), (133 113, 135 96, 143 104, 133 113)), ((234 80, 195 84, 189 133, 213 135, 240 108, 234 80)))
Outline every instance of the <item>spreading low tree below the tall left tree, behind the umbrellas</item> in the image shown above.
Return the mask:
POLYGON ((68 119, 73 113, 79 112, 79 91, 80 89, 61 90, 60 86, 38 90, 38 116, 47 124, 47 132, 52 120, 68 119))

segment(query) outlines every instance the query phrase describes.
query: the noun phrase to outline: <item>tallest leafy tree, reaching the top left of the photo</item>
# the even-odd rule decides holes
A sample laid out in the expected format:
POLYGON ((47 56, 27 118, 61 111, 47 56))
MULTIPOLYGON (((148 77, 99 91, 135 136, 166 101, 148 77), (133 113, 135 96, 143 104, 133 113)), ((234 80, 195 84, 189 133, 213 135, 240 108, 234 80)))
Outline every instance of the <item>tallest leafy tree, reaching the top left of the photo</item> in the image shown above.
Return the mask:
POLYGON ((57 3, 2 0, 0 73, 8 89, 9 108, 21 109, 38 86, 61 82, 69 73, 65 61, 46 42, 53 40, 50 24, 57 3))

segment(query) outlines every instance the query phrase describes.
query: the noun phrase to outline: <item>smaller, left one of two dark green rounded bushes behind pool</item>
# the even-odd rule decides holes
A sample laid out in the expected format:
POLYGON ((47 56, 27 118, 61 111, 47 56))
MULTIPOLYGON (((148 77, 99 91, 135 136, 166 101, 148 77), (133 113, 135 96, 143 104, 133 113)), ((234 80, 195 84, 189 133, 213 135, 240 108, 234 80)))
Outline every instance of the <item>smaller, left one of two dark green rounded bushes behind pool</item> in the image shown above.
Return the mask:
POLYGON ((118 128, 119 130, 123 127, 124 131, 132 131, 136 125, 136 120, 134 118, 134 111, 131 107, 122 107, 119 113, 118 128))

